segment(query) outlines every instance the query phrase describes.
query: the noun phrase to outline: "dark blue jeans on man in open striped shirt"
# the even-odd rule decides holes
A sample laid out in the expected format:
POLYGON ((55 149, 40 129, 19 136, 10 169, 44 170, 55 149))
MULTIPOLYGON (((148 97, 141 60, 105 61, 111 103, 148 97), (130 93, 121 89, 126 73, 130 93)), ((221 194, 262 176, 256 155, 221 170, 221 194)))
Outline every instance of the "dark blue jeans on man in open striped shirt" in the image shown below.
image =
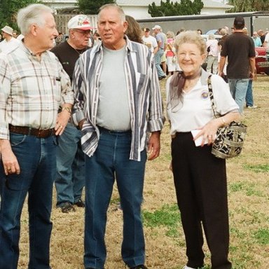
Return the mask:
POLYGON ((129 266, 144 264, 145 242, 141 218, 146 150, 142 160, 130 160, 131 132, 101 130, 97 150, 86 156, 85 268, 104 268, 106 212, 116 178, 123 209, 121 255, 129 266))

